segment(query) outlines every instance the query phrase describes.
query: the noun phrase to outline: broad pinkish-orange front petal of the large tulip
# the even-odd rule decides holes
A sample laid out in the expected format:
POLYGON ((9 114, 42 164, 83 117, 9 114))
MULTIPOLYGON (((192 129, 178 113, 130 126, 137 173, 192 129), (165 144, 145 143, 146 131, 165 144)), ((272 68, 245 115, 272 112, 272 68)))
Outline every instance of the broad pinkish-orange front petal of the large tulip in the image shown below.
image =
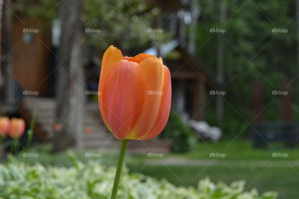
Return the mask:
MULTIPOLYGON (((132 133, 144 103, 144 80, 139 65, 121 60, 108 72, 99 104, 102 118, 106 118, 114 136, 127 139, 132 133)), ((107 126, 107 127, 108 127, 107 126)))

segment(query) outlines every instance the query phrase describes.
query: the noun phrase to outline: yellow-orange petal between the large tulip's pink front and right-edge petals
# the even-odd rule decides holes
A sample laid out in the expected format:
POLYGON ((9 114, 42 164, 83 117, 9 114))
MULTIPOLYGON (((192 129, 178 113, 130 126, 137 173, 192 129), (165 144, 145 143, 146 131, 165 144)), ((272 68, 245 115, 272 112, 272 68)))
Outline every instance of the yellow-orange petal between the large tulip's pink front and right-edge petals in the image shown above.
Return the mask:
POLYGON ((139 139, 153 127, 159 114, 163 92, 164 68, 161 58, 150 57, 140 63, 145 81, 144 107, 130 139, 139 139))

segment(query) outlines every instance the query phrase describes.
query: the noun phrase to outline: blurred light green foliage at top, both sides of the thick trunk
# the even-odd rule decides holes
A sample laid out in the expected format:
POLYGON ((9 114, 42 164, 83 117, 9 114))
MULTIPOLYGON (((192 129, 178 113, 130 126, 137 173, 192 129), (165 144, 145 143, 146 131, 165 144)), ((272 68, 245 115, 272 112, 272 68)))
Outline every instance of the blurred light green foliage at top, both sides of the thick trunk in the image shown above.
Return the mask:
MULTIPOLYGON (((125 54, 133 53, 136 49, 146 49, 169 36, 168 33, 153 34, 148 29, 154 29, 153 21, 161 12, 156 7, 149 7, 144 0, 83 0, 84 9, 80 18, 86 29, 98 32, 86 33, 89 44, 107 49, 114 45, 125 54)), ((17 0, 12 10, 22 16, 36 20, 36 25, 49 27, 54 19, 59 18, 59 5, 64 1, 52 0, 17 0)), ((79 13, 78 13, 79 14, 79 13)), ((130 55, 130 54, 129 54, 130 55)))

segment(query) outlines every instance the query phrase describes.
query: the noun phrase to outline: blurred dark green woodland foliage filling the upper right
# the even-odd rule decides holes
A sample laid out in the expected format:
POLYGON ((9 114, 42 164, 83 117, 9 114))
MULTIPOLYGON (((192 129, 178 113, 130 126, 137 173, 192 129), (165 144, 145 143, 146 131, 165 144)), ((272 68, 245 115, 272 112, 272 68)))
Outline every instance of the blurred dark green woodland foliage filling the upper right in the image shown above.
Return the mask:
MULTIPOLYGON (((295 79, 288 87, 282 82, 291 82, 299 73, 297 64, 295 1, 236 1, 227 0, 226 22, 219 22, 221 1, 201 1, 202 16, 197 25, 197 47, 208 43, 197 55, 216 72, 217 34, 211 28, 225 29, 224 90, 225 113, 222 129, 224 135, 239 134, 254 118, 252 82, 263 85, 264 121, 283 120, 282 96, 272 95, 273 90, 293 92, 292 104, 298 107, 295 79), (204 18, 204 17, 206 18, 204 18), (273 29, 287 29, 287 33, 273 32, 273 29), (250 62, 249 62, 250 61, 250 62), (235 110, 234 110, 235 109, 235 110), (273 114, 274 113, 274 114, 273 114), (275 114, 280 113, 280 114, 275 114), (240 114, 240 115, 239 115, 240 114), (244 119, 243 119, 243 118, 244 119)), ((219 33, 222 34, 222 33, 219 33)), ((215 100, 215 95, 207 95, 215 100)), ((212 104, 212 103, 211 103, 212 104)), ((216 124, 215 108, 208 107, 207 120, 216 124)), ((297 108, 298 109, 298 108, 297 108)), ((294 108, 294 119, 298 112, 294 108)), ((250 129, 249 129, 250 130, 250 129)), ((244 131, 246 132, 246 131, 244 131)), ((243 133, 244 134, 244 133, 243 133)))

